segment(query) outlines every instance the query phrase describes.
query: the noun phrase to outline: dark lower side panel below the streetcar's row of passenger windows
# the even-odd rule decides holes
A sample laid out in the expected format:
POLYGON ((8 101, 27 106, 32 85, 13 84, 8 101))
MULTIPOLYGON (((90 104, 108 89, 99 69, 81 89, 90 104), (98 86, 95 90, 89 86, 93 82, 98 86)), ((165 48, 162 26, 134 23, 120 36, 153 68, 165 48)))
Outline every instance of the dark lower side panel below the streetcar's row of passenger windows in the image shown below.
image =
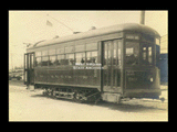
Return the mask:
POLYGON ((73 87, 100 87, 100 69, 60 69, 35 68, 35 84, 53 84, 73 87))

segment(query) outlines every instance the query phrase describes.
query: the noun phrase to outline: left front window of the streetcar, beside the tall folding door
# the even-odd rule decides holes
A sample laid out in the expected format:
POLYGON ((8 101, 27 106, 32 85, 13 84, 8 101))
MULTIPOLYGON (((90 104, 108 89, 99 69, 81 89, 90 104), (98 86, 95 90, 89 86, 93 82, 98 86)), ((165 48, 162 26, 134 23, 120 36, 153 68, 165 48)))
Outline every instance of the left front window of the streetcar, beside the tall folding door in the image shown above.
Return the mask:
POLYGON ((138 64, 138 45, 136 42, 126 42, 126 57, 125 64, 127 65, 137 65, 138 64))

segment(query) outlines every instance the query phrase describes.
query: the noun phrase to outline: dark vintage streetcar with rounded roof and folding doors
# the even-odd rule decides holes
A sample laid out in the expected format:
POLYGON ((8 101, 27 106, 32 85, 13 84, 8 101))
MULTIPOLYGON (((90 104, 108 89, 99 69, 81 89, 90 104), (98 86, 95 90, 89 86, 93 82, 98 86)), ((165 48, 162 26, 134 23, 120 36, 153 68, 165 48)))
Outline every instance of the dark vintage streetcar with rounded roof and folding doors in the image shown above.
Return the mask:
POLYGON ((136 23, 41 41, 24 54, 24 84, 79 102, 158 99, 159 34, 136 23))

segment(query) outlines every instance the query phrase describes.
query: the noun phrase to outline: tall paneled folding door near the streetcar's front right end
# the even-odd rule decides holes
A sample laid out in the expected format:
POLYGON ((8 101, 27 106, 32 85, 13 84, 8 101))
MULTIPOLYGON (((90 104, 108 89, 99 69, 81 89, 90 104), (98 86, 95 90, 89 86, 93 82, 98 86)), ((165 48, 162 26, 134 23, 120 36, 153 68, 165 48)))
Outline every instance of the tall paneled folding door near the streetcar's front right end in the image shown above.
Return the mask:
POLYGON ((121 40, 103 42, 103 91, 121 89, 121 40))

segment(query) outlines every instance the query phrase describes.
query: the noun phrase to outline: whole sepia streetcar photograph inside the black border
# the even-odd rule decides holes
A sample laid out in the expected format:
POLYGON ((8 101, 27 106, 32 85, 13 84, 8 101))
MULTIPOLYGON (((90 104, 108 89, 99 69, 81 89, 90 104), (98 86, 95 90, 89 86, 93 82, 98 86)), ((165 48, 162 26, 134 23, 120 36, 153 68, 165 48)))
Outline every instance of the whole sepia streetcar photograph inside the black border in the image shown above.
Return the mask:
POLYGON ((168 10, 9 10, 9 122, 168 122, 168 10))

